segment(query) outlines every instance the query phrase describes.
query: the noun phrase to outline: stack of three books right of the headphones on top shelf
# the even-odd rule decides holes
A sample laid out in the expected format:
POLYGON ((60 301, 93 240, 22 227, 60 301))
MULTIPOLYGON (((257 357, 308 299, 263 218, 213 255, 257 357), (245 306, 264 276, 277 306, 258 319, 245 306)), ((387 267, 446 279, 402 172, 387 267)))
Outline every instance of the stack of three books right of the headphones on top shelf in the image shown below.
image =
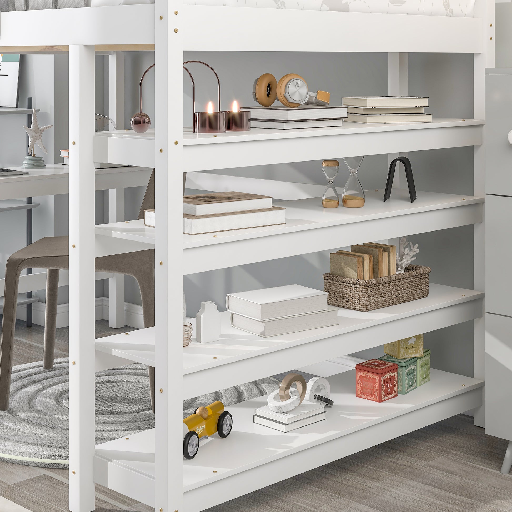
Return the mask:
POLYGON ((425 114, 426 96, 344 96, 347 121, 356 123, 424 123, 432 122, 425 114))

